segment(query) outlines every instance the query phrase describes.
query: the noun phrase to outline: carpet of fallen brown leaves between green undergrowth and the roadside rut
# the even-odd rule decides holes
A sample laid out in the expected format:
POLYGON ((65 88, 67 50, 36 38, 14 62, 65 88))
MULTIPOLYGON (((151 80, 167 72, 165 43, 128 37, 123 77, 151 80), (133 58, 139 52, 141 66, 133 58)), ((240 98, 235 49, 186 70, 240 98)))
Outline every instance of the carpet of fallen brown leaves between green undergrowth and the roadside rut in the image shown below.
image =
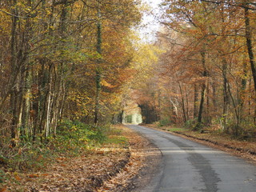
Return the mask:
POLYGON ((46 172, 17 174, 13 177, 18 183, 10 184, 10 191, 30 189, 38 191, 94 191, 95 181, 110 178, 114 175, 118 162, 127 158, 126 150, 103 148, 92 150, 88 157, 56 158, 53 165, 49 165, 46 172), (91 178, 97 178, 92 180, 91 178), (98 180, 100 179, 100 180, 98 180))

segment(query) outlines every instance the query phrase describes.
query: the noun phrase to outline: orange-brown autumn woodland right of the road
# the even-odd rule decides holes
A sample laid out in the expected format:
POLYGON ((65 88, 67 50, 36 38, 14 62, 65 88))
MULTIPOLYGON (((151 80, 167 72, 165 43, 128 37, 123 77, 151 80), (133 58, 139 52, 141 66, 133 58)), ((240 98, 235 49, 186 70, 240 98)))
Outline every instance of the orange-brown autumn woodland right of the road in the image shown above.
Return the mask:
POLYGON ((161 8, 156 45, 165 53, 138 90, 148 122, 255 137, 255 2, 177 0, 161 8))

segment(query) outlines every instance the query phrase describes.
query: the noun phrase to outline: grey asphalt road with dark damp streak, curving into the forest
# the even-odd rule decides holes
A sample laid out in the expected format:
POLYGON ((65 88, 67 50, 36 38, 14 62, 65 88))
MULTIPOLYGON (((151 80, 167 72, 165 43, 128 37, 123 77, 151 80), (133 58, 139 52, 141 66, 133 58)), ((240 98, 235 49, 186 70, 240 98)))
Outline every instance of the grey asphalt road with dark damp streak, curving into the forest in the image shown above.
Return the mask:
POLYGON ((143 192, 256 192, 256 166, 221 150, 144 126, 129 126, 162 152, 143 192))

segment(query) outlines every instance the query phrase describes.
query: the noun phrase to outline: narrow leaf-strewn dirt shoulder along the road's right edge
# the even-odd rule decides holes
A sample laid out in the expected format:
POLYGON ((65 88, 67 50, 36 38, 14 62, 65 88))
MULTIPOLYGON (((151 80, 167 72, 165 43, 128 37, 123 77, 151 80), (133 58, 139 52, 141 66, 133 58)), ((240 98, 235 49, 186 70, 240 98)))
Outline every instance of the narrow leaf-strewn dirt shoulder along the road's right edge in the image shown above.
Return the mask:
POLYGON ((202 143, 206 146, 211 146, 219 150, 226 151, 232 155, 244 158, 249 162, 256 164, 256 141, 241 141, 231 138, 227 134, 219 134, 213 132, 199 133, 191 130, 174 128, 172 126, 157 127, 156 125, 145 125, 156 130, 166 131, 171 134, 178 135, 182 138, 187 138, 195 142, 202 143))

